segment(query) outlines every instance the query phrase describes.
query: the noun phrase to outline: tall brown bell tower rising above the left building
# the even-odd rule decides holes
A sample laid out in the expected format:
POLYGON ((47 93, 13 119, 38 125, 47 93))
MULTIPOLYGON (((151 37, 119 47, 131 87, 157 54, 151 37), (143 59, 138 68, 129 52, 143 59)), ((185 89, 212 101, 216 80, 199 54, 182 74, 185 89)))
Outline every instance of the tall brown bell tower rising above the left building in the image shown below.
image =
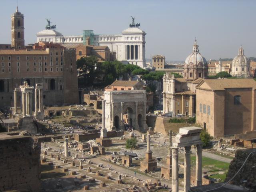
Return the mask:
POLYGON ((19 12, 18 6, 16 12, 12 14, 12 48, 24 49, 24 15, 19 12))

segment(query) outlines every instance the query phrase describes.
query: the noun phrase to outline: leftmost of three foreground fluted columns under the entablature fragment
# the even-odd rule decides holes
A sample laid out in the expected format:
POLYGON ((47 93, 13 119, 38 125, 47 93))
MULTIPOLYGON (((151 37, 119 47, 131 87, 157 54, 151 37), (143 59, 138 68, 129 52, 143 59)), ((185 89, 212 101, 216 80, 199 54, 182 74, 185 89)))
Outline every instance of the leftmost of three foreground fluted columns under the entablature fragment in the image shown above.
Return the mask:
POLYGON ((172 147, 172 192, 179 192, 179 148, 172 147))

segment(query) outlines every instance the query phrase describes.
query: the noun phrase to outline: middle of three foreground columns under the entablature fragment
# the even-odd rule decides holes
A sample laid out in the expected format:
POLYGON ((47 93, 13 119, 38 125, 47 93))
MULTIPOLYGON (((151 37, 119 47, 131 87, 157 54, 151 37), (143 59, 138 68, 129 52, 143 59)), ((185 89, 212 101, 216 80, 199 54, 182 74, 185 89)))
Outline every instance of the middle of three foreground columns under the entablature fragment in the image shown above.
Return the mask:
POLYGON ((190 154, 191 154, 191 146, 184 147, 185 148, 185 158, 184 158, 184 192, 188 192, 190 190, 190 154))

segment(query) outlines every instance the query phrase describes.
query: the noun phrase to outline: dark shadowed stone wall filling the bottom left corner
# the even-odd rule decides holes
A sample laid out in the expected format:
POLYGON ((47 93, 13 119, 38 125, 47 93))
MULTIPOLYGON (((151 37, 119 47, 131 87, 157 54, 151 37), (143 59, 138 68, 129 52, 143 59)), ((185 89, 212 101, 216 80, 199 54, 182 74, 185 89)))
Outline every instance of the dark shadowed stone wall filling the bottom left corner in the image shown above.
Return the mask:
POLYGON ((30 137, 0 139, 0 191, 40 191, 40 146, 30 137))

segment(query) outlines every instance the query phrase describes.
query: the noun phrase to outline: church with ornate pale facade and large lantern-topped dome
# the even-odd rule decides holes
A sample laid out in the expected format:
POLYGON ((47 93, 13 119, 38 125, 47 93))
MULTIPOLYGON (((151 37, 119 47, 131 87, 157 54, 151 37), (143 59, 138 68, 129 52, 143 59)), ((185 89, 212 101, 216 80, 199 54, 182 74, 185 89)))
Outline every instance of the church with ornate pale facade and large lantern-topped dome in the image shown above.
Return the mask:
POLYGON ((207 78, 208 64, 199 53, 195 40, 192 53, 186 58, 183 78, 175 78, 171 73, 163 78, 163 113, 170 116, 196 115, 196 86, 207 78))

